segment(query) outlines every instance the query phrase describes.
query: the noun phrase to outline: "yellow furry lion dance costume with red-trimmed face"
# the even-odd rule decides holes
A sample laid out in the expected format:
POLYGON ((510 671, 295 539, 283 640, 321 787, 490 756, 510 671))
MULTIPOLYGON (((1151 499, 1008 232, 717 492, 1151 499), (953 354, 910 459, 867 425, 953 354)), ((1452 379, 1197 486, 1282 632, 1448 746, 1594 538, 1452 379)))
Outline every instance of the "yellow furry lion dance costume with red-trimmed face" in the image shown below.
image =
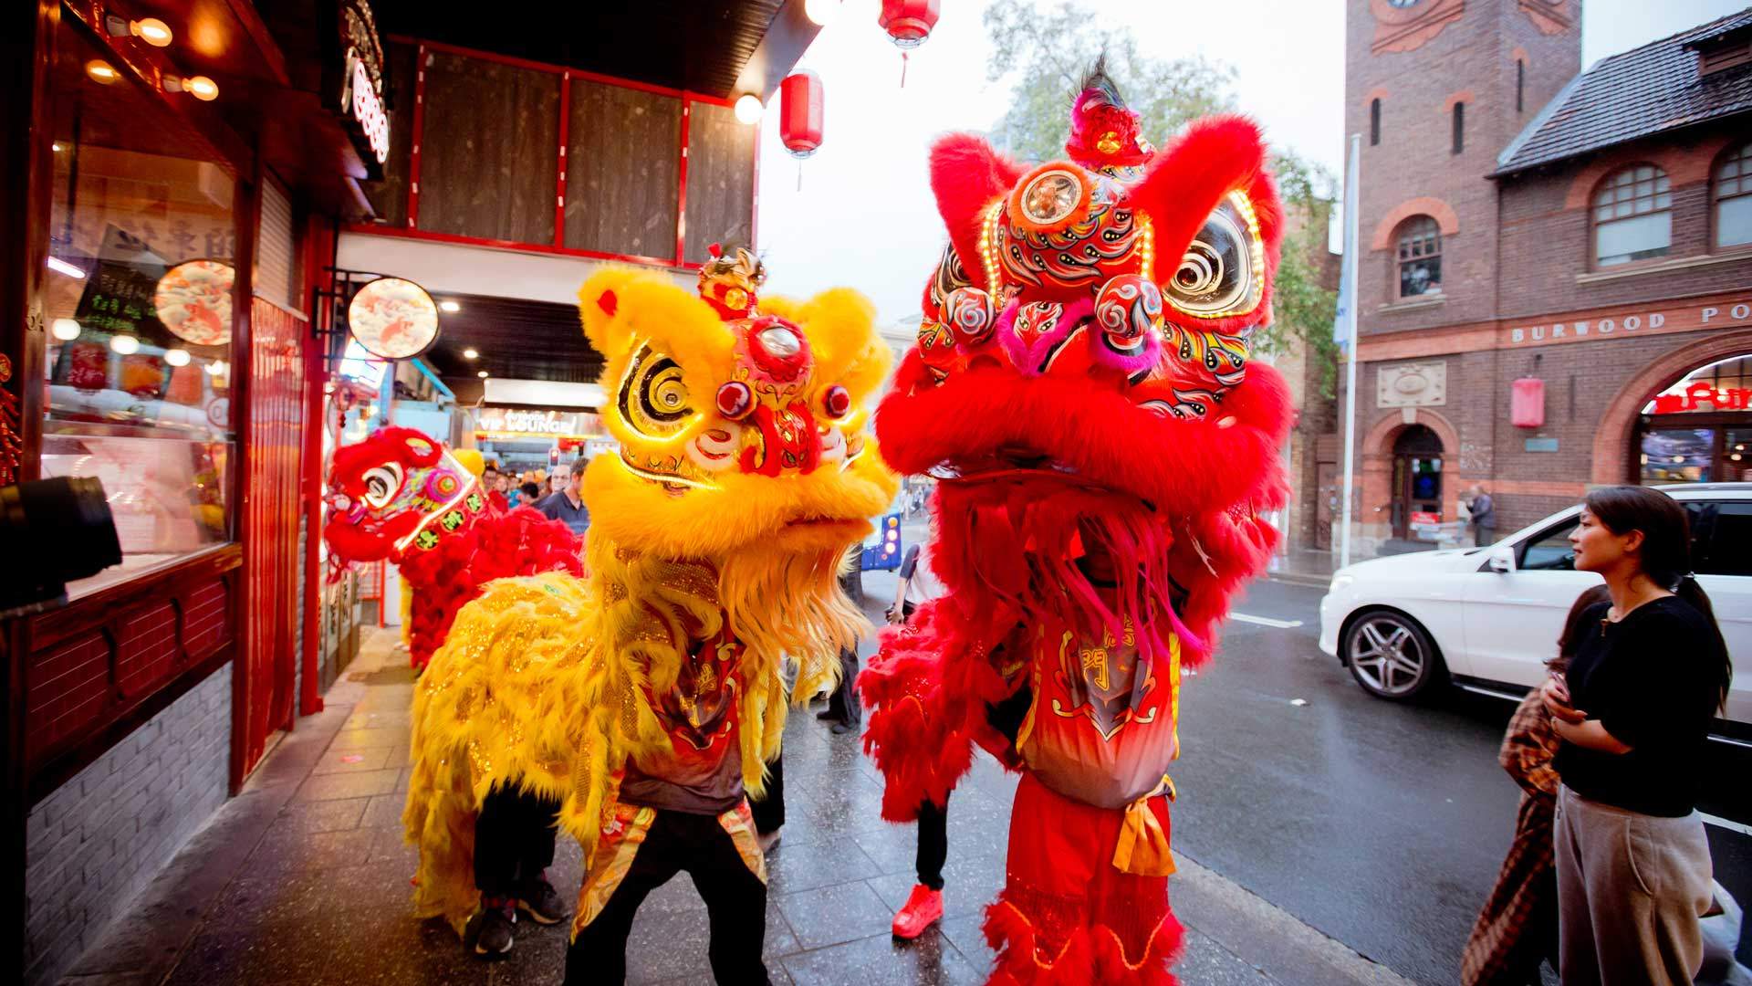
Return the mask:
MULTIPOLYGON (((867 632, 836 575, 897 486, 865 411, 888 349, 855 291, 757 311, 746 288, 729 312, 722 291, 703 300, 645 272, 603 270, 580 289, 620 442, 585 474, 589 575, 492 582, 426 668, 403 814, 419 916, 461 930, 475 911, 475 816, 496 786, 561 802, 587 870, 629 818, 622 777, 662 775, 683 733, 738 730, 757 797, 785 726, 781 661, 799 665, 795 695, 815 695, 867 632), (694 654, 708 640, 711 661, 694 654)), ((764 881, 759 851, 748 861, 764 881)))

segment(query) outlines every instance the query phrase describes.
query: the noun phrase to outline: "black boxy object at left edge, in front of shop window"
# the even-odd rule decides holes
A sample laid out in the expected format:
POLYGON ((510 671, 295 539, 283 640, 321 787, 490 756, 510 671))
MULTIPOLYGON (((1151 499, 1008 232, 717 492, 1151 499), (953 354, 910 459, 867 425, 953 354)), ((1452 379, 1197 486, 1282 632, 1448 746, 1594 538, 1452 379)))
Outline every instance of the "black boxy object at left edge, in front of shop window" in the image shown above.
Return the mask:
POLYGON ((56 477, 0 486, 0 619, 54 609, 67 582, 121 565, 103 484, 56 477))

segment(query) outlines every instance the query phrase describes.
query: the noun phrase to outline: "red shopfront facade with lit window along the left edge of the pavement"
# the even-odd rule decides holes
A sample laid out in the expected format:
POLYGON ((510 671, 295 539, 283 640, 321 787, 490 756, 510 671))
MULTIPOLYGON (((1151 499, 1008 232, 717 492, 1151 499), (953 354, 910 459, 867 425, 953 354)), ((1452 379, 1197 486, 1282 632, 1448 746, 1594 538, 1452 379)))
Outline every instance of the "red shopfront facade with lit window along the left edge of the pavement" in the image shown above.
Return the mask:
MULTIPOLYGON (((370 63, 380 95, 380 53, 361 54, 375 28, 359 0, 270 21, 189 0, 12 7, 0 405, 16 442, 0 442, 0 484, 98 477, 123 565, 0 623, 7 895, 100 925, 165 860, 117 860, 105 893, 63 902, 81 882, 63 890, 63 832, 105 837, 137 811, 130 842, 173 849, 321 707, 315 607, 300 605, 322 384, 310 309, 333 230, 370 216, 357 181, 380 174, 338 79, 370 63), (168 44, 145 40, 152 23, 168 44)), ((67 923, 9 923, 26 981, 77 954, 67 923)))

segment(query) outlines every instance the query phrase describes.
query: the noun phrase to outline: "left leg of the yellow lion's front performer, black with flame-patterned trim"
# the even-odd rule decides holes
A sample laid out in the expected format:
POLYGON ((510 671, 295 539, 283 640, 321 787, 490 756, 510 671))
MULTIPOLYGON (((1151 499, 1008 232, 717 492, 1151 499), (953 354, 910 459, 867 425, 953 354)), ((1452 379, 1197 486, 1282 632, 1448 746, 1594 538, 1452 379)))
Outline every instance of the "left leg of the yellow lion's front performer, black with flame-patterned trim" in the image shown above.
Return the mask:
MULTIPOLYGON (((650 811, 650 809, 643 809, 650 811)), ((625 982, 627 979, 627 935, 632 933, 632 918, 639 904, 650 891, 669 882, 690 853, 690 832, 687 819, 694 816, 657 812, 648 830, 634 832, 624 842, 608 840, 597 844, 597 856, 590 872, 585 874, 580 909, 599 893, 604 884, 615 879, 615 870, 625 867, 625 875, 608 902, 594 916, 580 912, 580 919, 589 919, 582 928, 573 928, 571 947, 566 949, 566 986, 592 986, 625 982), (631 849, 627 853, 618 849, 631 849)))

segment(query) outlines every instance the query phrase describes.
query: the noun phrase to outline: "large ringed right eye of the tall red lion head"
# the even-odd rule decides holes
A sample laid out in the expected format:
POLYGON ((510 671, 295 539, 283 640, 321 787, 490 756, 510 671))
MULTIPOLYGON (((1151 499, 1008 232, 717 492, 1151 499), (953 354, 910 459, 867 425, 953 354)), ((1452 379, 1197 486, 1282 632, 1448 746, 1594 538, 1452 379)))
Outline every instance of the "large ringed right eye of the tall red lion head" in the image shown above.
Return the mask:
POLYGON ((1162 293, 1193 318, 1226 318, 1256 309, 1263 289, 1260 223, 1247 196, 1232 191, 1193 237, 1162 293))

